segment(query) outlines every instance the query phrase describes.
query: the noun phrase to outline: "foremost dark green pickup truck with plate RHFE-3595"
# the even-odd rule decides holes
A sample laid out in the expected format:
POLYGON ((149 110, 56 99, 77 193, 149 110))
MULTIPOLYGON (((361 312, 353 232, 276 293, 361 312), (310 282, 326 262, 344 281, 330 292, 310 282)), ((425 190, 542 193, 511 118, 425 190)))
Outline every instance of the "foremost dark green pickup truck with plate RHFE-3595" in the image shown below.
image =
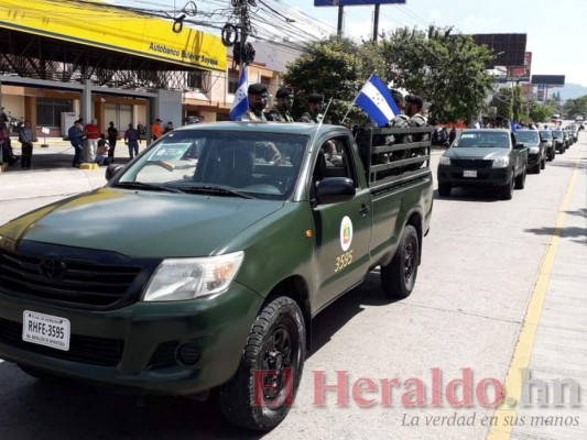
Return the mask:
POLYGON ((377 266, 389 297, 412 292, 433 204, 426 131, 170 132, 110 165, 104 188, 0 227, 0 358, 37 378, 211 395, 230 422, 272 429, 316 314, 377 266))

